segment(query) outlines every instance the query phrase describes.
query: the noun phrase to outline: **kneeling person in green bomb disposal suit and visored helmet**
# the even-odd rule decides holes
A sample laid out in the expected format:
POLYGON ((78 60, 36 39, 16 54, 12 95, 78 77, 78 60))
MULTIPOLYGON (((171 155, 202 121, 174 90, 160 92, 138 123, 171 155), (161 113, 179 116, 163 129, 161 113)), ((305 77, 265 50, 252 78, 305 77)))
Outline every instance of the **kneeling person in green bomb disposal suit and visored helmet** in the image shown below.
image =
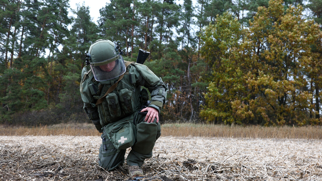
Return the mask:
POLYGON ((118 44, 101 39, 91 44, 90 70, 84 67, 80 85, 83 109, 102 133, 98 163, 108 171, 124 163, 141 167, 152 157, 161 135, 158 113, 168 88, 147 66, 124 61, 118 44), (151 93, 151 100, 146 87, 151 93), (146 107, 140 112, 142 107, 146 107), (154 115, 153 115, 154 114, 154 115))

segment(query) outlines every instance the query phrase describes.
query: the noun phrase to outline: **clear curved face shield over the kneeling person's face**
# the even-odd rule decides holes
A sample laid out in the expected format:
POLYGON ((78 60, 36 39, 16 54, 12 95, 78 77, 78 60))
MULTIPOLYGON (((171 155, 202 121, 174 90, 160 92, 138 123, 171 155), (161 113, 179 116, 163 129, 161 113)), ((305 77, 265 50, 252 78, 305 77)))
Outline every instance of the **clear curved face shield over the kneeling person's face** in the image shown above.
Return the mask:
POLYGON ((101 62, 91 62, 90 68, 97 81, 105 81, 119 77, 126 71, 124 60, 120 54, 101 62))

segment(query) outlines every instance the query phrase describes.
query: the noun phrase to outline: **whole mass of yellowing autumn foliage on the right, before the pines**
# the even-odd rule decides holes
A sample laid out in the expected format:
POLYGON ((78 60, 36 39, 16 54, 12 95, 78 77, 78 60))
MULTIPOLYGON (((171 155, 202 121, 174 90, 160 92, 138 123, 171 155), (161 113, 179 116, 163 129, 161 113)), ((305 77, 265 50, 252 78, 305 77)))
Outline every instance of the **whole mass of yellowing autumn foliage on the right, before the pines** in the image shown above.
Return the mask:
POLYGON ((258 10, 237 41, 222 41, 222 37, 238 37, 228 30, 228 36, 219 32, 217 27, 224 27, 225 15, 217 19, 217 26, 206 28, 205 50, 211 47, 208 51, 215 52, 215 56, 206 57, 214 62, 214 77, 201 115, 208 121, 223 123, 312 122, 314 118, 308 117, 313 106, 308 76, 313 56, 310 45, 321 35, 318 25, 302 18, 301 6, 290 6, 284 13, 279 0, 271 0, 268 8, 258 10), (230 48, 230 42, 237 45, 230 48))

